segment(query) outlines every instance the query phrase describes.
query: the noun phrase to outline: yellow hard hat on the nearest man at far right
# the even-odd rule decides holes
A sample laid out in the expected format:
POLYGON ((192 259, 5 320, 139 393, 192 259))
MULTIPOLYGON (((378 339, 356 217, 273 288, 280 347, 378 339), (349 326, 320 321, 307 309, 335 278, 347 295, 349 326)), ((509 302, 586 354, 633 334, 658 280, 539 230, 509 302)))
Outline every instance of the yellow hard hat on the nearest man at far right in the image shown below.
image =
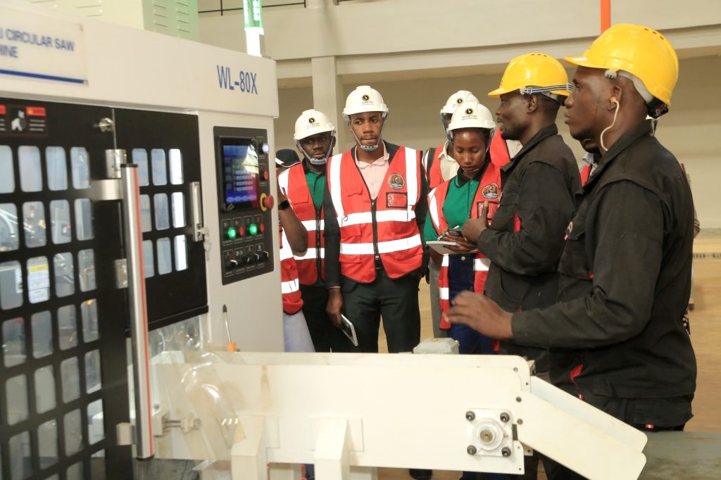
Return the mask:
POLYGON ((581 57, 565 57, 573 65, 603 68, 637 76, 648 92, 671 105, 671 92, 678 79, 678 57, 671 43, 659 32, 619 23, 593 40, 581 57))

